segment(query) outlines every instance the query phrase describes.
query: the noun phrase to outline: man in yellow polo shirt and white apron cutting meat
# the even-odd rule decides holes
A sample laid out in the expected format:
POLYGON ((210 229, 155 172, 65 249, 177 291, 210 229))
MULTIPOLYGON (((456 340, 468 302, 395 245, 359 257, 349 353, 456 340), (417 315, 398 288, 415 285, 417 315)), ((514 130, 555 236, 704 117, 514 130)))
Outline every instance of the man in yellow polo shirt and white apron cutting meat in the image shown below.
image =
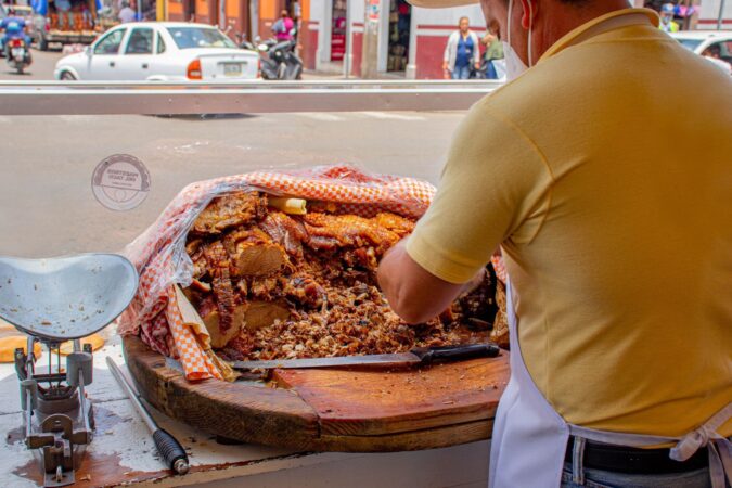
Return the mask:
POLYGON ((723 487, 732 80, 626 0, 481 5, 515 79, 458 129, 435 201, 382 260, 382 288, 424 321, 501 247, 512 380, 492 486, 723 487), (677 93, 695 94, 682 113, 677 93))

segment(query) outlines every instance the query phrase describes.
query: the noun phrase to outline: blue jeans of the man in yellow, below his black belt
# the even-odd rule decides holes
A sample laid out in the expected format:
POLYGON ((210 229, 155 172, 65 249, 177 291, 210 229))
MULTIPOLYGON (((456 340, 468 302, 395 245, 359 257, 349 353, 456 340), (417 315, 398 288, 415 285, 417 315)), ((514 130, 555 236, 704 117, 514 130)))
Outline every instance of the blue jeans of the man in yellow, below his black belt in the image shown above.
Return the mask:
POLYGON ((637 475, 585 468, 585 485, 572 481, 572 463, 564 463, 562 488, 710 488, 709 468, 662 475, 637 475))

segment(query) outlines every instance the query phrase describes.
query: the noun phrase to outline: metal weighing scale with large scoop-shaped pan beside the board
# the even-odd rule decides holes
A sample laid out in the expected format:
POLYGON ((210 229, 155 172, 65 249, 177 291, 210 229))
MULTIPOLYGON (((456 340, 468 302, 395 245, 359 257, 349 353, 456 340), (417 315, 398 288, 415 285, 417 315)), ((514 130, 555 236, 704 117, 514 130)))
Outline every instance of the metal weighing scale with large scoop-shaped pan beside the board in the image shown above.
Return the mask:
POLYGON ((75 483, 94 416, 85 388, 93 377, 91 345, 82 337, 112 323, 137 292, 138 274, 114 254, 50 259, 0 256, 0 318, 28 334, 24 352, 15 350, 21 382, 25 444, 40 454, 44 487, 75 483), (61 343, 73 352, 61 361, 61 343), (48 367, 37 361, 34 344, 48 350, 48 367))

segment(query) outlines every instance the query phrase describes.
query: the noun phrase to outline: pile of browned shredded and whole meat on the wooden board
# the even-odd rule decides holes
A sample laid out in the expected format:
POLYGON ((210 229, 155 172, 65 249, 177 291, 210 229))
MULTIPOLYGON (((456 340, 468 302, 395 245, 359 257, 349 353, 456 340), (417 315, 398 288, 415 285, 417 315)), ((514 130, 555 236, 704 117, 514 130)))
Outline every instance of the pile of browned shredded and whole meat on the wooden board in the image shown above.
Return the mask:
POLYGON ((496 278, 439 318, 408 325, 376 286, 383 254, 414 221, 329 213, 313 203, 288 215, 259 192, 215 198, 193 223, 185 294, 228 359, 283 359, 406 351, 487 341, 498 308, 496 278))

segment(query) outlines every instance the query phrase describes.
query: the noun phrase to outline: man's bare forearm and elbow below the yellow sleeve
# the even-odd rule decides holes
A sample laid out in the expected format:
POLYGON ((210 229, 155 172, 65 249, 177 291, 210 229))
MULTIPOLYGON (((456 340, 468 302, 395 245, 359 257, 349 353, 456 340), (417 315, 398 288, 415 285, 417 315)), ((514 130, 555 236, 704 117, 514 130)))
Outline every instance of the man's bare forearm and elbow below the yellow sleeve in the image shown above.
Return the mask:
POLYGON ((429 273, 407 254, 404 243, 402 240, 382 258, 378 285, 404 322, 422 323, 445 311, 470 284, 450 283, 429 273))

